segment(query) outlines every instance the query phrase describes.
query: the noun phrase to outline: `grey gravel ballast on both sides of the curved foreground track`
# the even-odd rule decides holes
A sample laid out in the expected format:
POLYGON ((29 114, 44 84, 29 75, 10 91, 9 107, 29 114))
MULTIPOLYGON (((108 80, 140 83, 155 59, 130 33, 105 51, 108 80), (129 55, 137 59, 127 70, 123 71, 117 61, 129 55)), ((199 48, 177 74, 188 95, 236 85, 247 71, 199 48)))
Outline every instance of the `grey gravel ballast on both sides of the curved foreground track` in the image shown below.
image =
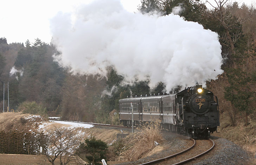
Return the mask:
MULTIPOLYGON (((188 148, 191 143, 188 139, 184 139, 181 136, 175 136, 172 133, 164 132, 163 137, 166 139, 166 144, 171 146, 169 149, 163 150, 152 156, 139 159, 134 162, 119 163, 120 165, 135 165, 145 162, 150 162, 154 159, 159 159, 167 155, 179 152, 188 148)), ((224 138, 211 137, 215 142, 215 147, 209 153, 200 158, 187 163, 188 165, 249 165, 250 160, 254 159, 248 155, 241 147, 235 143, 228 141, 224 138)))

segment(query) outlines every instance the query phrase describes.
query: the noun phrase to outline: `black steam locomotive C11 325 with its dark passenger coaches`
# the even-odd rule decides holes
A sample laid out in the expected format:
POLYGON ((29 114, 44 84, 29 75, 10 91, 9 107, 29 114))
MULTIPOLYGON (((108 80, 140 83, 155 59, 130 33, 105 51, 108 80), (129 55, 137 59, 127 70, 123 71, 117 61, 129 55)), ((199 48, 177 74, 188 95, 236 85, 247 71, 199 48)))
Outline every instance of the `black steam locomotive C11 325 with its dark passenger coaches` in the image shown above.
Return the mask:
POLYGON ((201 85, 175 94, 130 97, 119 100, 119 117, 124 126, 159 122, 162 128, 192 138, 209 137, 219 126, 218 98, 201 85))

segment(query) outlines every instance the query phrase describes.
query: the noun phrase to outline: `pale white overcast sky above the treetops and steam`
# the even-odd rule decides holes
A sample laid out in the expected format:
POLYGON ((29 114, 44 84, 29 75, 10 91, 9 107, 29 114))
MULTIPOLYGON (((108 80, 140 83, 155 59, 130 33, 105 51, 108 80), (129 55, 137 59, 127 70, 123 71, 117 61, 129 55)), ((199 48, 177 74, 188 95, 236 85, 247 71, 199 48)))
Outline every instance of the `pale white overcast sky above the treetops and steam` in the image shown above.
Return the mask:
MULTIPOLYGON (((8 43, 23 42, 35 38, 50 43, 51 32, 49 20, 59 11, 74 12, 83 3, 92 0, 5 0, 0 8, 0 37, 7 38, 8 43)), ((140 0, 121 0, 123 7, 129 12, 136 12, 140 0)), ((238 0, 250 5, 255 0, 238 0)))

